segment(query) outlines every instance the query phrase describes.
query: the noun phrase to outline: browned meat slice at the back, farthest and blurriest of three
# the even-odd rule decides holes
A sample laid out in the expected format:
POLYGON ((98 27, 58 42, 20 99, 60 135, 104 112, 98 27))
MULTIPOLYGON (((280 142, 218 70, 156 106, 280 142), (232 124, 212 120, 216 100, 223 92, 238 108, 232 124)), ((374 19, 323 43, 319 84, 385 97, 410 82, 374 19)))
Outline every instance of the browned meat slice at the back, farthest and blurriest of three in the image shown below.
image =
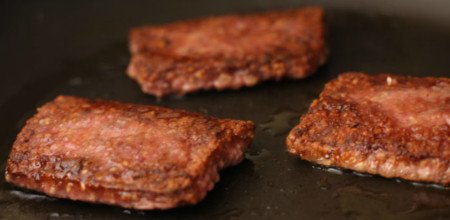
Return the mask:
POLYGON ((140 27, 129 38, 128 75, 158 97, 304 78, 327 57, 317 7, 140 27))

